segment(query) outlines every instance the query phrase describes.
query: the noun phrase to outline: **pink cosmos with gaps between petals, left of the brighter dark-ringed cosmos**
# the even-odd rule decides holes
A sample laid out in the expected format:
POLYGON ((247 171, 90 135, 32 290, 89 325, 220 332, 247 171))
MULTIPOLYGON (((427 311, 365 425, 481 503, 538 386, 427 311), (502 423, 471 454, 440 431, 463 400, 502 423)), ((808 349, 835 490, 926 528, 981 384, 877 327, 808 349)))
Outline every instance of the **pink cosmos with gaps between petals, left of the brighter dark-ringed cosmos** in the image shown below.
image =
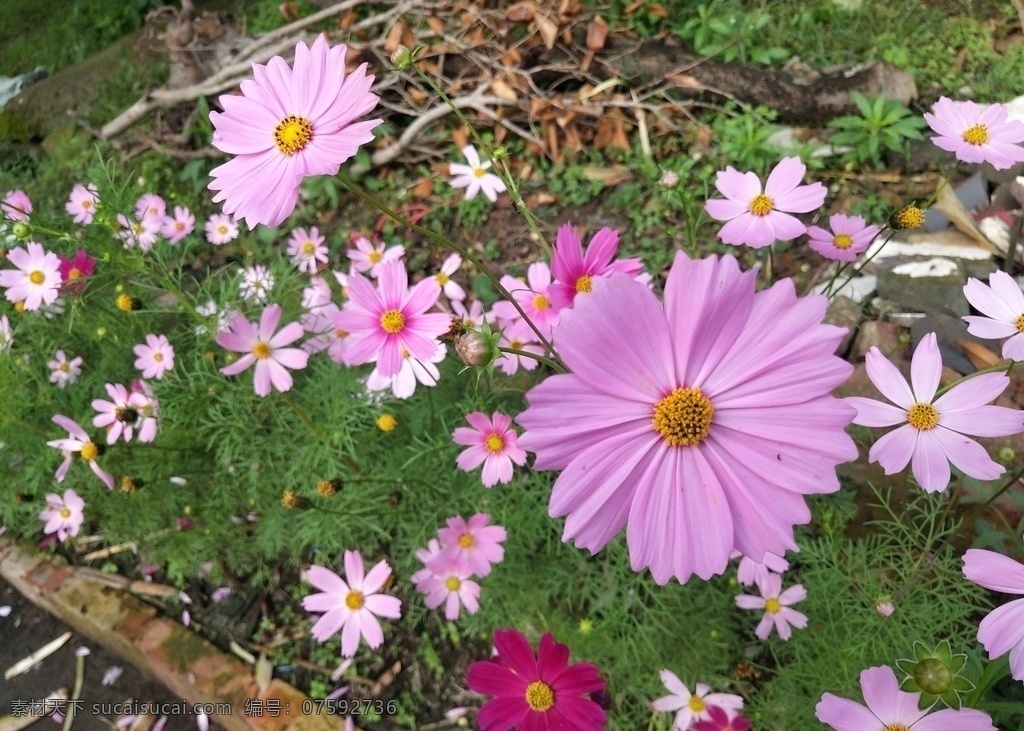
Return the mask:
POLYGON ((281 305, 266 307, 260 315, 259 327, 237 310, 228 317, 227 331, 217 334, 217 345, 245 355, 220 369, 220 372, 225 376, 238 376, 255 363, 253 390, 257 396, 269 395, 271 386, 279 391, 291 389, 292 375, 288 373, 288 369, 304 369, 309 355, 300 348, 285 346, 302 337, 302 326, 289 322, 279 331, 281 305))

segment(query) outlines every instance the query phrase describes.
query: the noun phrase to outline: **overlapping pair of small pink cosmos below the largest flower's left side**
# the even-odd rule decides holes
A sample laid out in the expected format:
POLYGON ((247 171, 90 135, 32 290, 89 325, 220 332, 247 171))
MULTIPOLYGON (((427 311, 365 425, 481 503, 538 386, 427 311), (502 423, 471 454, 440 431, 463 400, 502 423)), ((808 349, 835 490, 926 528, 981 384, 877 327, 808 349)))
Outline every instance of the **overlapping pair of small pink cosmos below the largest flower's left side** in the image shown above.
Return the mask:
POLYGON ((416 552, 423 568, 412 576, 413 585, 426 596, 431 609, 444 605, 444 618, 459 618, 463 607, 470 614, 480 608, 480 585, 471 580, 490 573, 493 564, 505 558, 501 544, 508 533, 501 525, 488 525, 490 516, 477 513, 468 521, 462 516, 447 519, 426 549, 416 552))

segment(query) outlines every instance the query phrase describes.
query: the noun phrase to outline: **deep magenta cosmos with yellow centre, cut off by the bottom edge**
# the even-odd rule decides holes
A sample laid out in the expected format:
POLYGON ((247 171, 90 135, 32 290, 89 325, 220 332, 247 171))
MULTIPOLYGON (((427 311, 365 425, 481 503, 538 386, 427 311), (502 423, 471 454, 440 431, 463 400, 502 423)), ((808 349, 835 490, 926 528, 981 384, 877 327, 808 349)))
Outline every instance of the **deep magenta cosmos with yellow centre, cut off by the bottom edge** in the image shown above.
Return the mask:
POLYGON ((495 630, 496 660, 474 662, 469 689, 495 697, 476 717, 482 731, 600 731, 605 715, 584 693, 603 690, 600 672, 589 662, 568 664, 569 648, 547 633, 537 656, 514 630, 495 630))

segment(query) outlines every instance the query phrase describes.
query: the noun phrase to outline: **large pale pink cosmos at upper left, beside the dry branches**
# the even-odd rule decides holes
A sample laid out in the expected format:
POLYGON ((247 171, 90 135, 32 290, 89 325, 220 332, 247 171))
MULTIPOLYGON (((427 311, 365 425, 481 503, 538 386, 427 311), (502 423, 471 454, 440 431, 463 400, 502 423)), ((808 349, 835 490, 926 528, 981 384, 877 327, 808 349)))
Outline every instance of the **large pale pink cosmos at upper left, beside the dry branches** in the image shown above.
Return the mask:
POLYGON ((354 123, 379 97, 370 93, 367 64, 345 75, 344 45, 331 48, 318 36, 312 47, 295 46, 295 62, 281 56, 253 63, 242 95, 220 97, 211 112, 213 145, 236 156, 214 168, 210 189, 224 213, 250 228, 275 226, 295 209, 299 183, 308 175, 335 175, 382 120, 354 123))

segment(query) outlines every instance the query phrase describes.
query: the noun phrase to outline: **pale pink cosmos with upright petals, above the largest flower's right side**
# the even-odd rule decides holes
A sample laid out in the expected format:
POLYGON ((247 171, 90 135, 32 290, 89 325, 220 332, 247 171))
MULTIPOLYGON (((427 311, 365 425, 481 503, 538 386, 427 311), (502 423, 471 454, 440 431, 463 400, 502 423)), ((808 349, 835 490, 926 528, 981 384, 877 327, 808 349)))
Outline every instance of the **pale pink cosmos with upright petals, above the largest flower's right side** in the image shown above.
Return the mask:
POLYGON ((764 192, 755 173, 740 173, 732 166, 719 170, 715 187, 725 199, 705 204, 712 218, 728 221, 718 232, 725 244, 745 244, 754 249, 775 241, 792 241, 807 231, 791 213, 810 213, 825 202, 827 189, 819 182, 801 184, 807 172, 800 158, 782 158, 768 174, 764 192))

